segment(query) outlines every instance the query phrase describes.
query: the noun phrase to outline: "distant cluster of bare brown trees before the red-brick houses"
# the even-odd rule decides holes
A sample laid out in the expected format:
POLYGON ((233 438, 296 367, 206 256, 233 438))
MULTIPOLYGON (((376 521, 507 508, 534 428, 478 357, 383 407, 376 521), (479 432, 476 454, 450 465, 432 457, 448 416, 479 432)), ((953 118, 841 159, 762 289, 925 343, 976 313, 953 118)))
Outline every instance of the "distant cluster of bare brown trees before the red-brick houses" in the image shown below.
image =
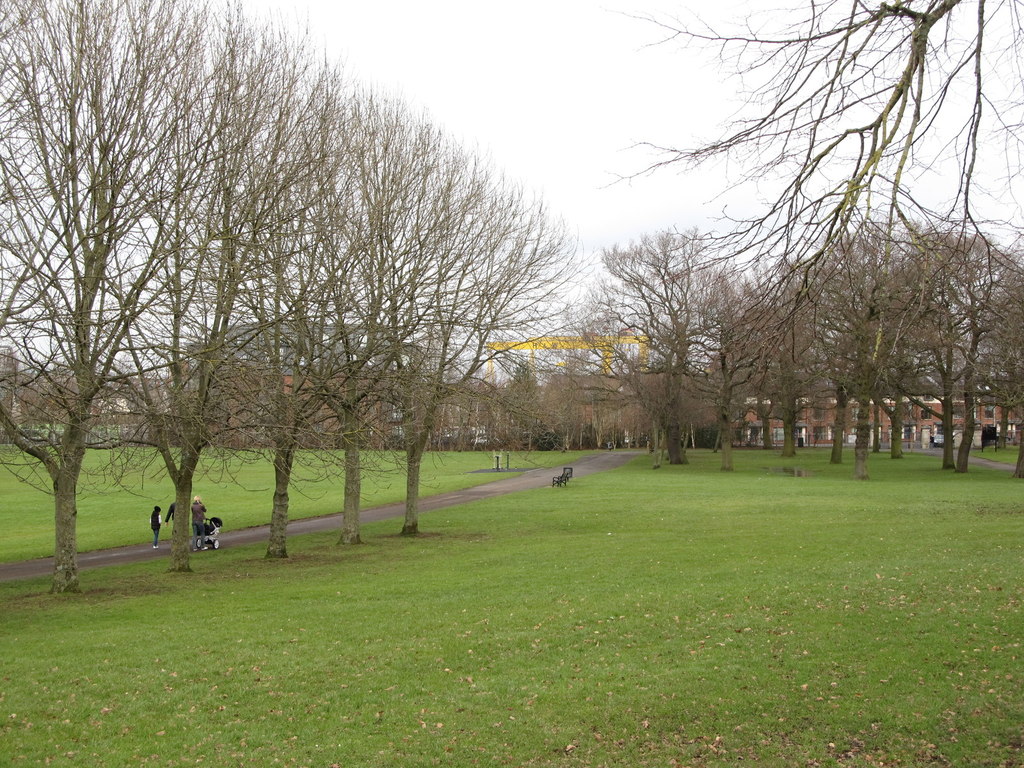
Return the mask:
MULTIPOLYGON (((604 253, 608 281, 595 297, 600 328, 634 329, 648 359, 623 356, 621 380, 665 435, 671 463, 685 461, 684 425, 714 415, 722 468, 730 470, 734 424, 754 408, 765 425, 780 419, 792 438, 806 402, 836 403, 853 429, 855 469, 866 479, 871 407, 887 411, 899 456, 908 398, 941 403, 953 432, 963 403, 963 439, 943 466, 966 472, 979 399, 1024 406, 1024 261, 967 227, 893 229, 864 221, 818 265, 813 288, 774 274, 739 272, 697 232, 660 232, 604 253)), ((842 460, 847 425, 834 429, 842 460)), ((1024 475, 1024 467, 1018 468, 1024 475)))

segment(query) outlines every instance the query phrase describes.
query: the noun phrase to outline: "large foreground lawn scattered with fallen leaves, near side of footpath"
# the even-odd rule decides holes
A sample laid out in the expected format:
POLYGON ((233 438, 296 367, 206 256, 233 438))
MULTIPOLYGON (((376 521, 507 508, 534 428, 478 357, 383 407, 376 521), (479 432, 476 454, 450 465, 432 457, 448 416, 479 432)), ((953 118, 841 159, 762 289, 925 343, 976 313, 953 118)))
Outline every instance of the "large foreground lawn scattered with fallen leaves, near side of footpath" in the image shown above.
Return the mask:
POLYGON ((1024 765, 1020 481, 691 459, 0 584, 0 762, 1024 765))

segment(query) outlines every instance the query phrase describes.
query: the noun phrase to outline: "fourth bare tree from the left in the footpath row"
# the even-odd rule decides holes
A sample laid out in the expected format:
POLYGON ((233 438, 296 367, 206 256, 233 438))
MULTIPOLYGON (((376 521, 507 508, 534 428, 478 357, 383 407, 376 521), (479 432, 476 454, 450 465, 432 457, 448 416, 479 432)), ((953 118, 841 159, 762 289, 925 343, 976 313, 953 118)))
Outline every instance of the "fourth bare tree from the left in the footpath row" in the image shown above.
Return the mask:
POLYGON ((418 263, 420 224, 429 222, 434 129, 397 99, 372 92, 352 103, 347 158, 349 215, 326 252, 332 269, 329 301, 337 318, 330 334, 340 366, 325 383, 345 450, 340 544, 360 539, 362 445, 368 419, 386 400, 396 359, 408 347, 416 304, 407 265, 418 263))

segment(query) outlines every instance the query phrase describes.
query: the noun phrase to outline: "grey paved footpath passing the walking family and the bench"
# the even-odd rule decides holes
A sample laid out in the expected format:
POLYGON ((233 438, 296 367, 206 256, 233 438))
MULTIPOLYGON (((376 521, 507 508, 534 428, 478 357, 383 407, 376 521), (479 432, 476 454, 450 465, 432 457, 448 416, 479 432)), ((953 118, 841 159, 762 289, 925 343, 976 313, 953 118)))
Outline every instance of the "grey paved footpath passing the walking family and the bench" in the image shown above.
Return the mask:
MULTIPOLYGON (((584 477, 594 472, 602 472, 607 469, 621 467, 631 459, 641 456, 636 451, 605 451, 600 454, 585 456, 572 462, 572 478, 584 477)), ((454 507, 459 504, 475 502, 479 499, 490 499, 496 496, 513 494, 517 490, 528 490, 551 485, 551 478, 561 471, 560 467, 544 467, 542 469, 531 469, 514 477, 503 477, 502 479, 477 485, 462 490, 453 490, 450 494, 438 494, 420 499, 420 512, 431 512, 445 507, 454 507)), ((498 475, 499 473, 495 473, 498 475)), ((571 493, 572 482, 567 488, 553 488, 553 494, 571 493)), ((375 522, 394 517, 403 517, 406 514, 406 503, 387 504, 382 507, 372 507, 359 512, 361 522, 375 522)), ((313 534, 325 530, 341 530, 341 513, 325 515, 324 517, 309 517, 302 520, 294 520, 288 524, 288 536, 299 536, 301 534, 313 534)), ((230 547, 232 545, 255 544, 265 542, 270 535, 269 525, 258 525, 252 528, 242 528, 240 530, 225 530, 220 535, 221 546, 230 547)), ((144 562, 146 560, 157 560, 167 557, 169 549, 154 549, 152 544, 136 544, 129 547, 118 547, 117 549, 96 550, 93 552, 82 552, 78 556, 79 571, 90 568, 98 568, 103 565, 119 565, 124 563, 144 562)), ((43 557, 37 560, 25 560, 23 562, 0 563, 0 582, 10 582, 17 579, 34 579, 37 577, 51 575, 53 573, 53 558, 43 557)))

